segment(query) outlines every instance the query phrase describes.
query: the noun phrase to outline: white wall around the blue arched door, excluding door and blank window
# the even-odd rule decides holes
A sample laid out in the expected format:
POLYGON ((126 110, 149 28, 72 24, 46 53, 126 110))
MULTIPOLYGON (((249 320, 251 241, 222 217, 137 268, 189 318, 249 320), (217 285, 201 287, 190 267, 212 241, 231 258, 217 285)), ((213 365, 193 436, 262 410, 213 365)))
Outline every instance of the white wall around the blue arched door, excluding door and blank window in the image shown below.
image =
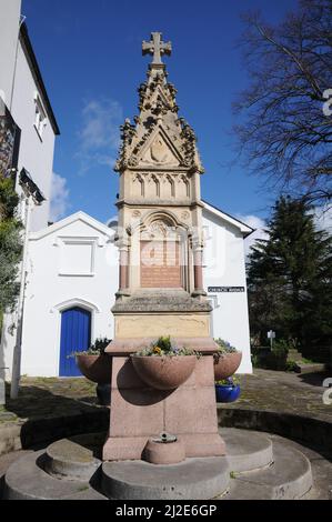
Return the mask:
MULTIPOLYGON (((54 229, 53 225, 49 230, 54 229)), ((41 239, 31 239, 26 291, 21 374, 59 375, 61 310, 88 303, 91 339, 113 337, 111 307, 118 291, 118 249, 109 237, 83 221, 74 221, 41 239), (59 275, 63 239, 95 238, 93 275, 59 275)), ((61 267, 62 264, 62 267, 61 267)), ((7 335, 6 365, 11 372, 13 338, 7 335)))

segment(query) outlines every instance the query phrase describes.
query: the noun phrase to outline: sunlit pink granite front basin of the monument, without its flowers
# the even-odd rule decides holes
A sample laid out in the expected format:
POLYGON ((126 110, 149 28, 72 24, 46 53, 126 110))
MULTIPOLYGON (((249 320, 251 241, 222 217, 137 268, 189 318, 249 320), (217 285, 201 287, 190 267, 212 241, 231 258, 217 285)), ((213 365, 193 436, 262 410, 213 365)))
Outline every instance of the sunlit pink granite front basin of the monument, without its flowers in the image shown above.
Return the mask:
POLYGON ((157 390, 174 390, 193 372, 195 355, 143 357, 131 355, 133 367, 145 384, 157 390))

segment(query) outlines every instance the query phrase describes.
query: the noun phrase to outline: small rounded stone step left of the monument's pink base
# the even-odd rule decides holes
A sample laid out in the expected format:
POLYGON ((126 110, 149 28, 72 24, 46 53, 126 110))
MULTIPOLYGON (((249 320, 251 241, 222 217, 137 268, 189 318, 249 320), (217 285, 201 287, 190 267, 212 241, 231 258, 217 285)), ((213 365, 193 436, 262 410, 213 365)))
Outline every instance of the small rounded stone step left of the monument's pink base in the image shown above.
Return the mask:
POLYGON ((101 464, 90 448, 70 439, 62 439, 49 445, 46 454, 44 470, 50 475, 83 482, 89 481, 101 464))

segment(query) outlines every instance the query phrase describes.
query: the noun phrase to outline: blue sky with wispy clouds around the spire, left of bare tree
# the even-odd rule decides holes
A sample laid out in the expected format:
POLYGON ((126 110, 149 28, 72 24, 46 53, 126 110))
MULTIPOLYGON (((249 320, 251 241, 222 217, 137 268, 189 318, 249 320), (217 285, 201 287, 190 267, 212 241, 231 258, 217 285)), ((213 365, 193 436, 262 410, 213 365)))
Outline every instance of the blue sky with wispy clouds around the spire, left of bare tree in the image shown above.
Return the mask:
POLYGON ((112 171, 119 126, 138 113, 148 57, 141 42, 161 31, 180 116, 193 127, 205 167, 202 195, 256 225, 276 194, 235 161, 232 102, 248 84, 237 41, 241 12, 260 9, 276 23, 296 0, 23 0, 29 34, 61 130, 54 155, 53 218, 78 210, 115 214, 112 171), (230 168, 229 164, 233 163, 230 168))

